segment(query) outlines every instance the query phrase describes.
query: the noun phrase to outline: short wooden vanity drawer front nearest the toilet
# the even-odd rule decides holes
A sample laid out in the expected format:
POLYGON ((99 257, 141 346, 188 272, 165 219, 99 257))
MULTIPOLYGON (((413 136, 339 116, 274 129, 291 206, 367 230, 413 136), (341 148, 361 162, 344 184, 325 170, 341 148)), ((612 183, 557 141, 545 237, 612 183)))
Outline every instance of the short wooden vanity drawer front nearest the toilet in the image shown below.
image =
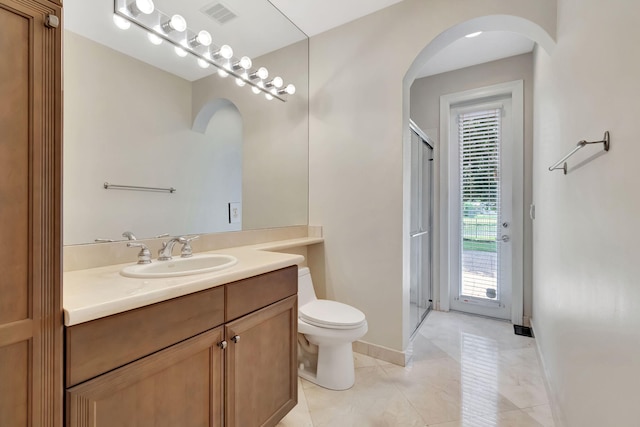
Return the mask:
POLYGON ((237 319, 297 293, 297 265, 228 284, 225 321, 237 319))

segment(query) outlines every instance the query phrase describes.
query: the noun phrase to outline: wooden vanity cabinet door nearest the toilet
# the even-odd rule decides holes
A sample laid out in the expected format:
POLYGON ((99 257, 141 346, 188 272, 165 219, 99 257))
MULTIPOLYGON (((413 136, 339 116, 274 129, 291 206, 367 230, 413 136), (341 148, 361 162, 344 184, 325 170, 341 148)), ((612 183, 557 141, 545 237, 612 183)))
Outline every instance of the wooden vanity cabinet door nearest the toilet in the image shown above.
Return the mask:
POLYGON ((225 327, 227 426, 274 426, 298 402, 298 302, 292 296, 225 327))

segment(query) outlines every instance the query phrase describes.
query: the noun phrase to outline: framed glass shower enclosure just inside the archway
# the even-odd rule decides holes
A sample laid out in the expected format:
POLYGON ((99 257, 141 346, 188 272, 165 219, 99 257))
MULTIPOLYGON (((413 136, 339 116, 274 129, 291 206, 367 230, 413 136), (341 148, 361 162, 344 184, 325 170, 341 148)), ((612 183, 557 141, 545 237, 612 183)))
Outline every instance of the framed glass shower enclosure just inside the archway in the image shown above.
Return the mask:
POLYGON ((413 122, 411 128, 410 322, 418 329, 432 308, 433 143, 413 122))

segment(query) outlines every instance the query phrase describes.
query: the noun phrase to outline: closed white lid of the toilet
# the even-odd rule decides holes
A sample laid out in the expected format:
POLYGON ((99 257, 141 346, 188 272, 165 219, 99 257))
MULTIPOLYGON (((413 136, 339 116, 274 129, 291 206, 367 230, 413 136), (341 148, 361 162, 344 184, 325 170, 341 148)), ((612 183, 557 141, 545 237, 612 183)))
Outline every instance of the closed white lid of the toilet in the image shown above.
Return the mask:
POLYGON ((298 316, 311 325, 331 329, 354 329, 366 321, 364 313, 357 308, 329 300, 315 300, 303 305, 298 316))

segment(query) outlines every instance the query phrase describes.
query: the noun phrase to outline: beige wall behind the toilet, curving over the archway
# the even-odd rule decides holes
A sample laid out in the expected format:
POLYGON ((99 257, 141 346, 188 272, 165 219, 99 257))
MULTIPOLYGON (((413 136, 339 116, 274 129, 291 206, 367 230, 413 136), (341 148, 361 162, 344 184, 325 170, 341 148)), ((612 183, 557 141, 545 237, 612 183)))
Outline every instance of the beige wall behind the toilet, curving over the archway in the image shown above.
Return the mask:
POLYGON ((405 74, 438 34, 479 16, 520 16, 555 34, 552 0, 457 3, 405 0, 310 40, 309 223, 324 230, 324 290, 365 312, 364 341, 395 350, 408 344, 405 74))

